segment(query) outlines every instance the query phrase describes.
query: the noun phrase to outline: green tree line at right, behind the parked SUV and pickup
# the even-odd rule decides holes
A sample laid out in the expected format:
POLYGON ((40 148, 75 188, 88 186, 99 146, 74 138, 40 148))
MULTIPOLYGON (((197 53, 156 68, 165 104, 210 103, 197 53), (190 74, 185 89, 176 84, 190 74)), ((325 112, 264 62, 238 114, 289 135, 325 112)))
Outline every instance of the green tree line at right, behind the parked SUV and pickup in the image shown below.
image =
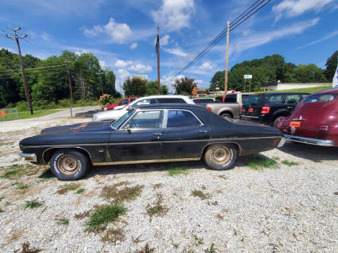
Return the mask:
MULTIPOLYGON (((326 70, 315 64, 295 65, 286 63, 279 54, 265 56, 260 59, 246 60, 234 65, 228 72, 228 90, 249 91, 249 80, 244 80, 244 74, 252 74, 251 91, 259 91, 261 84, 267 82, 282 83, 325 83, 332 82, 334 71, 337 67, 338 51, 327 59, 326 70)), ((215 72, 210 81, 209 89, 222 91, 225 83, 225 72, 215 72)))

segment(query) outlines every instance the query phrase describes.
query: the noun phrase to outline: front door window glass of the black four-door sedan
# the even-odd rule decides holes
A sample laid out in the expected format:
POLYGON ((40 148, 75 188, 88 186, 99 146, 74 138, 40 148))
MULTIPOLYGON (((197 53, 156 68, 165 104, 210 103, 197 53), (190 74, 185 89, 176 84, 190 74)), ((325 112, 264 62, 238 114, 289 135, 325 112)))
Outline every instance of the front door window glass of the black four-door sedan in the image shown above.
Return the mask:
POLYGON ((158 129, 163 121, 163 110, 137 112, 132 119, 125 123, 130 129, 158 129))

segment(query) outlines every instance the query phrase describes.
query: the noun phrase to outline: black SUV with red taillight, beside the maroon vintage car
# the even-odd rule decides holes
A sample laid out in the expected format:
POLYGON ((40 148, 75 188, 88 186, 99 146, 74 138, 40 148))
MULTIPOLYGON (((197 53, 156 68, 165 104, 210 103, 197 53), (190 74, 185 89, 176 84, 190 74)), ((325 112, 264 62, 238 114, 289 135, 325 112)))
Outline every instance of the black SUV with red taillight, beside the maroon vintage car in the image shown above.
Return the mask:
POLYGON ((242 107, 241 119, 275 126, 290 115, 300 100, 309 93, 273 92, 251 94, 242 107))

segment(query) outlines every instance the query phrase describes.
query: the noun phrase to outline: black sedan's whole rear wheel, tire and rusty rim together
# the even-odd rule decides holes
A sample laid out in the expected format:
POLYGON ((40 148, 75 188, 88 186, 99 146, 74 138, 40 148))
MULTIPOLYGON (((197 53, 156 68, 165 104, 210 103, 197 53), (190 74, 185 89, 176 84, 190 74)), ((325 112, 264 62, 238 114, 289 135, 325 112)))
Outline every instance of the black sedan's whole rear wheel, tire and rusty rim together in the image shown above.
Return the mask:
POLYGON ((209 168, 215 170, 230 169, 237 160, 237 149, 233 144, 219 143, 208 147, 204 160, 209 168))

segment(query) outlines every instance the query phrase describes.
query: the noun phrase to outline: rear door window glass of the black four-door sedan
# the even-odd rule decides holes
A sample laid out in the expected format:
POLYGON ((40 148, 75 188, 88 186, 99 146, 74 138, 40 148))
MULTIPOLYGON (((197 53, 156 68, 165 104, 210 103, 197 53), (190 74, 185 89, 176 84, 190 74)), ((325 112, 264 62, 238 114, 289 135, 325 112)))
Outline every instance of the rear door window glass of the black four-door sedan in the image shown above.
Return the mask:
POLYGON ((192 112, 184 110, 169 110, 167 128, 182 126, 199 126, 201 122, 192 112))

